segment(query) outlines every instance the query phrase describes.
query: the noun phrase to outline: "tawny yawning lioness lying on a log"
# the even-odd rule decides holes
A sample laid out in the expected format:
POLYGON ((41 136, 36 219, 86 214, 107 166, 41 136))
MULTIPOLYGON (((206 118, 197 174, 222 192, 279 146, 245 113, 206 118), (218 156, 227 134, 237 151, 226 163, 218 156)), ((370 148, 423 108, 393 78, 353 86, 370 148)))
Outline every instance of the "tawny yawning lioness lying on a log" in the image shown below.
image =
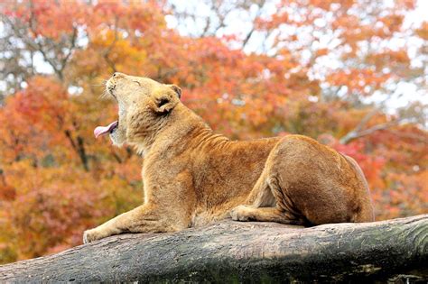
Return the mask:
POLYGON ((115 73, 118 120, 94 133, 144 154, 144 204, 84 233, 174 232, 238 221, 326 224, 374 220, 355 160, 301 135, 230 141, 181 104, 181 89, 115 73))

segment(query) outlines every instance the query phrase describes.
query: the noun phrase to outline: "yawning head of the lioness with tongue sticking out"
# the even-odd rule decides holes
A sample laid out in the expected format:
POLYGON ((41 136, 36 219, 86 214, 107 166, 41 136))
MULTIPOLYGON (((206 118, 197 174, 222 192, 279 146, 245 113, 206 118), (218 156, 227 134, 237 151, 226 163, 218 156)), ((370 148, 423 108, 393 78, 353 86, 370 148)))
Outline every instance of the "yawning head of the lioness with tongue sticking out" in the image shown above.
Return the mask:
POLYGON ((118 104, 118 119, 107 126, 98 126, 94 134, 96 137, 109 134, 117 146, 147 143, 163 127, 181 97, 181 89, 175 85, 118 72, 107 80, 106 88, 118 104))

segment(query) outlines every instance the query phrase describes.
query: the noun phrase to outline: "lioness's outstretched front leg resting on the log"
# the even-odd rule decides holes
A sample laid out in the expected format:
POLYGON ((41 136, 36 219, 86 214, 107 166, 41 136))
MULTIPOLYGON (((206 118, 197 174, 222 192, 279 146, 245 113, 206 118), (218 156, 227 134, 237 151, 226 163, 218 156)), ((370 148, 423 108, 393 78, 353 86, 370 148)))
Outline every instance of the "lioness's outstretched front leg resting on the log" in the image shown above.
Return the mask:
POLYGON ((181 229, 169 222, 171 218, 161 218, 159 211, 154 206, 138 206, 94 229, 85 231, 83 243, 90 243, 114 234, 174 232, 181 229))

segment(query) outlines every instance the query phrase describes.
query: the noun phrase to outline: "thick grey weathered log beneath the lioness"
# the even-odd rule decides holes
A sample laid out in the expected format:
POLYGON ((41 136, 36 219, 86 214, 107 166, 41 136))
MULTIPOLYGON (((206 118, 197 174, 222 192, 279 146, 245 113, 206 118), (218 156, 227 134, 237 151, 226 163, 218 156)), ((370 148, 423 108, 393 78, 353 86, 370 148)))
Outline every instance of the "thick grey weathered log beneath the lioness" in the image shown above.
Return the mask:
POLYGON ((0 282, 425 282, 428 215, 300 226, 225 220, 122 234, 0 266, 0 282))

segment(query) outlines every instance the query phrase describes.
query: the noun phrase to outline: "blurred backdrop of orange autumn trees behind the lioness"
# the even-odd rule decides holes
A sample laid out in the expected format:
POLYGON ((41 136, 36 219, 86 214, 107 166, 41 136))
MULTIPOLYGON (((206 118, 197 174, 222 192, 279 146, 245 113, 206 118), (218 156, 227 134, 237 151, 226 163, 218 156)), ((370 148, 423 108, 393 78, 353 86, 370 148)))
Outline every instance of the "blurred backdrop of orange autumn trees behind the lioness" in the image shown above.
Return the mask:
POLYGON ((142 202, 142 159, 92 134, 116 117, 100 99, 115 71, 178 84, 232 139, 299 133, 348 154, 377 220, 428 213, 421 3, 0 4, 0 262, 78 245, 142 202))

